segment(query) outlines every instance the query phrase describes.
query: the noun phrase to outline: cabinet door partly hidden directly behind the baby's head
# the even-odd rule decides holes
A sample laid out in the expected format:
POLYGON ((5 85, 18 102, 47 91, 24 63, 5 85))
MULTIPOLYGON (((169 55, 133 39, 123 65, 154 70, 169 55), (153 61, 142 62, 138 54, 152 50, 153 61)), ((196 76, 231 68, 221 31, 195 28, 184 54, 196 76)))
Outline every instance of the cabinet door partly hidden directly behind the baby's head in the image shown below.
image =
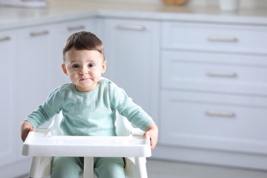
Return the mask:
POLYGON ((64 83, 70 82, 68 77, 63 73, 61 64, 63 62, 62 49, 68 36, 77 31, 91 31, 94 33, 94 28, 97 27, 95 18, 68 21, 53 25, 53 43, 51 49, 51 59, 49 60, 49 68, 53 73, 49 73, 49 89, 53 90, 64 83))

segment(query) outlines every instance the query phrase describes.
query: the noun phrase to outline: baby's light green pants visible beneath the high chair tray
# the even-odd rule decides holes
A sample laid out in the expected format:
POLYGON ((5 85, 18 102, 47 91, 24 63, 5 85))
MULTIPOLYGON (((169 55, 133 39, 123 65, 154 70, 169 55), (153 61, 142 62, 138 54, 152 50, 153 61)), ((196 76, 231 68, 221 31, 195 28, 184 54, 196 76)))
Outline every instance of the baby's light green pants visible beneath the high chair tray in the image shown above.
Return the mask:
MULTIPOLYGON (((79 178, 83 173, 84 157, 53 159, 51 178, 79 178)), ((125 178, 123 158, 94 157, 94 174, 99 178, 125 178)))

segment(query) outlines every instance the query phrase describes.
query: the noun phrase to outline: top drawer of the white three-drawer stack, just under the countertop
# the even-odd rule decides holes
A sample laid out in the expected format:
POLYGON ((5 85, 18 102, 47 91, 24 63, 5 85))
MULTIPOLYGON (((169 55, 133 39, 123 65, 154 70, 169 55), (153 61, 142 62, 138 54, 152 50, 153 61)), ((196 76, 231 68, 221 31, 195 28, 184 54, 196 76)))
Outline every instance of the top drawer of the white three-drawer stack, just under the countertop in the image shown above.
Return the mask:
POLYGON ((267 27, 163 23, 164 49, 267 53, 267 27))

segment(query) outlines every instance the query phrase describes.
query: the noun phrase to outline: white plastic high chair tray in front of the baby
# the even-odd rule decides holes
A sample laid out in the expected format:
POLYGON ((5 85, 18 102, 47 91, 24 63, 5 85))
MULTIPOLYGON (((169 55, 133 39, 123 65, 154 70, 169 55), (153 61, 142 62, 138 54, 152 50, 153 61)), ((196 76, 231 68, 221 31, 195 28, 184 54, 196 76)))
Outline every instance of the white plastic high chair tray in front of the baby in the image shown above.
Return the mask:
POLYGON ((29 132, 23 155, 68 157, 150 157, 150 138, 138 136, 46 136, 29 132))

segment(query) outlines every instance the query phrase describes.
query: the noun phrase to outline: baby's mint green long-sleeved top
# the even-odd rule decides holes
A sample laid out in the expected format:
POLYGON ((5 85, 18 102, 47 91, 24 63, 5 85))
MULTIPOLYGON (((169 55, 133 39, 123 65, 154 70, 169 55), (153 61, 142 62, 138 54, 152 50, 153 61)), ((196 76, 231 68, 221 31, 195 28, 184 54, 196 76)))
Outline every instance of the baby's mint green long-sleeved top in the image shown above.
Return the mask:
POLYGON ((90 92, 79 92, 72 83, 56 88, 26 120, 38 128, 61 110, 60 127, 66 136, 116 136, 116 110, 143 131, 154 123, 122 88, 105 78, 90 92))

